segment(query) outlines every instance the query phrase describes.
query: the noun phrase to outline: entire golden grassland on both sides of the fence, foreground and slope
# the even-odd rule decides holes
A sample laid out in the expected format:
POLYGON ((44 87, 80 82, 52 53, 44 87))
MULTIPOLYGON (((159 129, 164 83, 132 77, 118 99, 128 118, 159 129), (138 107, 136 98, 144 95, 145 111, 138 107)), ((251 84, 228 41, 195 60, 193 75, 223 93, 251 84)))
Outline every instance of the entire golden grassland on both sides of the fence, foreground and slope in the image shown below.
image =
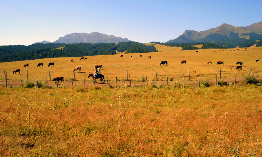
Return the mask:
MULTIPOLYGON (((255 60, 260 59, 262 47, 195 51, 0 63, 1 85, 4 69, 9 83, 26 80, 26 70, 30 80, 44 82, 45 75, 49 80, 48 70, 52 78, 70 80, 74 67, 81 66, 82 73, 77 72, 76 78, 82 81, 97 64, 103 65, 101 73, 111 81, 116 77, 119 82, 125 80, 126 70, 133 83, 141 81, 142 76, 149 80, 148 86, 138 87, 91 86, 91 78, 86 78, 90 86, 74 88, 0 87, 0 156, 262 156, 261 83, 208 88, 190 85, 199 75, 203 81, 214 80, 219 69, 221 80, 233 82, 235 72, 237 78, 245 77, 250 68, 261 77, 262 63, 255 60), (168 65, 160 66, 162 60, 168 65), (187 60, 187 64, 180 64, 181 60, 187 60), (218 60, 224 65, 217 65, 218 60), (235 69, 237 61, 243 62, 241 71, 235 69), (49 62, 55 66, 47 67, 49 62), (44 66, 37 67, 38 63, 44 66), (20 68, 21 74, 13 74, 15 68, 20 68), (183 73, 188 79, 188 69, 192 81, 183 82, 183 73), (154 82, 155 70, 158 79, 173 77, 174 81, 169 86, 154 82)), ((48 85, 51 83, 54 85, 48 81, 48 85)))

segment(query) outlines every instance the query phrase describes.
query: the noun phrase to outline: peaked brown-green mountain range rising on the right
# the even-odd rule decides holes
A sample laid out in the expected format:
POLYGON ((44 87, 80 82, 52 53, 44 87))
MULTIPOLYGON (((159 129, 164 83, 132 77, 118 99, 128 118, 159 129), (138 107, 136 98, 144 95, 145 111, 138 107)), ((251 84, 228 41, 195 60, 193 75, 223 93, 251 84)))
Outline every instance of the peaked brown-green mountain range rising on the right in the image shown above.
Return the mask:
POLYGON ((216 28, 197 32, 185 30, 178 38, 169 40, 167 43, 188 43, 188 42, 212 42, 232 39, 262 39, 262 22, 254 23, 246 27, 235 27, 229 24, 222 24, 216 28))

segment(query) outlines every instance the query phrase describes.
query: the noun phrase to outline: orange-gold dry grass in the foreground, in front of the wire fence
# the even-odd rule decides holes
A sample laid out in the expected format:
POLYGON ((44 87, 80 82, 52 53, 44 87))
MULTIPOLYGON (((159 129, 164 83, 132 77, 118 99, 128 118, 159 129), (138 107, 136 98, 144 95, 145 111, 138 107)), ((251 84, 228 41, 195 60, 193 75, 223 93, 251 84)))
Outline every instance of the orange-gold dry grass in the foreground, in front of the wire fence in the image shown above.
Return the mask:
POLYGON ((178 84, 0 87, 0 156, 261 156, 261 86, 178 84))

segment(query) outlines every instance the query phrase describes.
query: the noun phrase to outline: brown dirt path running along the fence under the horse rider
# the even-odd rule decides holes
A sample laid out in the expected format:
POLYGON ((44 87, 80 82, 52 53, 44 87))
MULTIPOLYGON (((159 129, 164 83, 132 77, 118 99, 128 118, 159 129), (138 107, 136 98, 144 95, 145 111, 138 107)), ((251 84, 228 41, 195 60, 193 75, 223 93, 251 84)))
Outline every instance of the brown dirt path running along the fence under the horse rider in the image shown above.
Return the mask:
MULTIPOLYGON (((258 77, 256 78, 257 80, 262 80, 262 77, 258 77)), ((237 82, 241 82, 243 81, 244 78, 237 78, 237 82)), ((203 80, 202 80, 203 81, 203 80)), ((217 80, 218 81, 218 80, 217 80)), ((223 81, 226 81, 228 83, 234 83, 234 78, 228 78, 228 79, 223 79, 223 81)), ((107 83, 99 83, 100 81, 98 81, 97 83, 95 83, 95 86, 99 86, 99 87, 105 87, 107 86, 107 83)), ((116 86, 116 82, 115 81, 108 81, 110 83, 111 86, 116 86)), ((169 81, 169 85, 172 84, 173 81, 169 81)), ((18 80, 0 80, 0 86, 5 87, 7 83, 7 86, 13 86, 13 87, 19 87, 22 86, 21 81, 18 80)), ((150 85, 152 82, 148 82, 148 85, 150 85)), ((154 81, 154 84, 167 84, 167 81, 154 81)), ((197 86, 199 85, 199 81, 185 81, 185 83, 190 84, 192 86, 197 86)), ((209 80, 209 83, 214 85, 215 84, 215 79, 214 80, 209 80)), ((74 87, 77 86, 84 86, 84 82, 82 81, 73 81, 73 85, 74 87)), ((145 86, 146 82, 140 82, 140 81, 131 81, 131 86, 145 86)), ((23 86, 25 86, 25 81, 23 81, 23 86)), ((56 83, 54 83, 54 81, 47 81, 47 86, 49 87, 56 87, 56 83)), ((64 83, 62 82, 61 84, 58 85, 59 87, 62 86, 67 86, 67 87, 72 87, 72 81, 64 81, 64 83)), ((85 86, 94 86, 92 81, 86 81, 85 82, 85 86)), ((130 81, 117 81, 117 86, 130 86, 130 81)))

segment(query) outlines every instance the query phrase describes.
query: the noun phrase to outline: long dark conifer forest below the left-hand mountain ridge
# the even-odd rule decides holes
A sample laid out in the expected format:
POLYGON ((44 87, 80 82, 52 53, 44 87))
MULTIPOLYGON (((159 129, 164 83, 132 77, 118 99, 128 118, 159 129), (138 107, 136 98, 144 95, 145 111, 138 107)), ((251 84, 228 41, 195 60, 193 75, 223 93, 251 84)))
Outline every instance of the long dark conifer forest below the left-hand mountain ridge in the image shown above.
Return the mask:
POLYGON ((130 41, 115 43, 36 43, 29 46, 0 46, 0 62, 35 60, 54 57, 80 57, 92 55, 114 55, 121 48, 127 53, 156 52, 155 47, 130 41), (64 47, 62 49, 57 49, 64 47))

